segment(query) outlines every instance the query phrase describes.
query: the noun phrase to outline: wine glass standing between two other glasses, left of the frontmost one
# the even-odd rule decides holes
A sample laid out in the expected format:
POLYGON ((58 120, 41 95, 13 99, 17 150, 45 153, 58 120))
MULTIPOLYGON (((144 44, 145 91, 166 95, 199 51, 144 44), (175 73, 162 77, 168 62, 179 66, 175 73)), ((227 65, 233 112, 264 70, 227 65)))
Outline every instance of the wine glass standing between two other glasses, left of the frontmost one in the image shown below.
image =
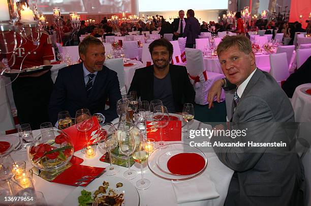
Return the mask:
POLYGON ((132 180, 137 176, 137 172, 131 169, 131 162, 130 162, 130 155, 133 154, 136 146, 134 136, 131 132, 133 128, 134 125, 129 122, 120 123, 118 125, 118 129, 120 130, 120 132, 118 133, 120 152, 123 155, 128 156, 129 169, 123 173, 123 178, 126 180, 132 180))

